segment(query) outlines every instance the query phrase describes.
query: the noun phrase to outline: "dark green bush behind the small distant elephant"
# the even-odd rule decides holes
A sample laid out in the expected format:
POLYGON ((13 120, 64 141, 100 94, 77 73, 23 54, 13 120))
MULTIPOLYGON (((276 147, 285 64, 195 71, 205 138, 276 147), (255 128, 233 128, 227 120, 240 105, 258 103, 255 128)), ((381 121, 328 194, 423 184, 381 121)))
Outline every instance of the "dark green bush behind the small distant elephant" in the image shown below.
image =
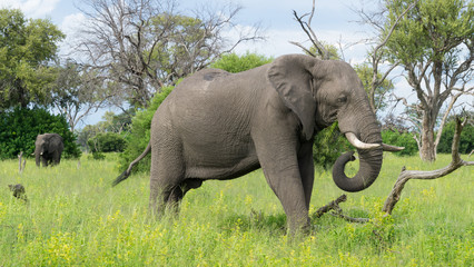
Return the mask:
POLYGON ((0 159, 17 158, 20 151, 23 151, 23 155, 32 154, 37 136, 46 132, 59 134, 62 137, 62 157, 80 157, 76 136, 68 129, 62 116, 50 115, 39 108, 14 108, 9 112, 0 112, 0 159))

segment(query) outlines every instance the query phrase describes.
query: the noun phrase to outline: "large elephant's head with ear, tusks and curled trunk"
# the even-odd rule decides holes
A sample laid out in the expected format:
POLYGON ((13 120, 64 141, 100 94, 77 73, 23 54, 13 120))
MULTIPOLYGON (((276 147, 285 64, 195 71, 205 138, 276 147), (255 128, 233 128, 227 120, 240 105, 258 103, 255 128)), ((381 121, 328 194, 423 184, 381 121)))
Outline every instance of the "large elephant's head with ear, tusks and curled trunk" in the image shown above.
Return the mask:
POLYGON ((356 71, 343 61, 289 55, 273 62, 268 80, 302 121, 307 140, 337 120, 357 148, 358 172, 353 178, 345 175, 344 167, 354 157, 353 152, 343 155, 333 168, 335 184, 345 191, 369 187, 381 171, 383 148, 396 148, 382 144, 381 126, 356 71))

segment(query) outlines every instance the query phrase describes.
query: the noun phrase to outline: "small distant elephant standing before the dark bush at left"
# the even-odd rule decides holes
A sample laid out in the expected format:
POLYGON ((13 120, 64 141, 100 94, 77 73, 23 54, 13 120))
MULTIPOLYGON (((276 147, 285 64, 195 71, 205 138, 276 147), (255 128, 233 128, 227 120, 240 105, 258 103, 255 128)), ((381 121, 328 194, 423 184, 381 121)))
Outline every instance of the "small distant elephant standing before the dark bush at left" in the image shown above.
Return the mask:
POLYGON ((34 157, 38 167, 40 167, 40 162, 42 162, 43 167, 47 167, 48 165, 59 165, 61 161, 62 150, 65 149, 62 137, 60 135, 38 135, 34 146, 34 157))

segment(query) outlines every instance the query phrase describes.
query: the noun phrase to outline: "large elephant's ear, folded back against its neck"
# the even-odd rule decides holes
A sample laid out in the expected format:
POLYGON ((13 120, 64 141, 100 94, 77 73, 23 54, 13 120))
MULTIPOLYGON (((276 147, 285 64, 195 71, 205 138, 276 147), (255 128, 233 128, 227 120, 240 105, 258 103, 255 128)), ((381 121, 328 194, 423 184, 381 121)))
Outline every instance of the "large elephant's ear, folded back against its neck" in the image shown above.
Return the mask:
POLYGON ((316 63, 317 59, 308 56, 287 55, 277 58, 267 72, 271 86, 302 121, 306 140, 313 138, 315 128, 316 101, 312 70, 316 63))

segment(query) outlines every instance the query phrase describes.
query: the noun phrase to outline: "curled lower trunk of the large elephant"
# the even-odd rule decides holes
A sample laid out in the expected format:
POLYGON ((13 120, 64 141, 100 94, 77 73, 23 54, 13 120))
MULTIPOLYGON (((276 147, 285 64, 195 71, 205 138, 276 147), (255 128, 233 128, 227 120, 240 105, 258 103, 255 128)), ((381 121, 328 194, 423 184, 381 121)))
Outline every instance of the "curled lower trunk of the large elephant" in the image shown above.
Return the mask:
MULTIPOLYGON (((382 136, 379 127, 376 123, 367 127, 368 134, 362 134, 362 140, 366 145, 378 144, 377 146, 368 146, 357 148, 359 155, 359 169, 358 172, 349 178, 344 172, 344 168, 348 161, 355 160, 354 152, 347 152, 342 155, 333 167, 333 179, 334 182, 343 190, 354 192, 361 191, 369 187, 375 179, 378 177, 382 168, 383 148, 382 148, 382 136)), ((366 128, 366 129, 367 129, 366 128)))

